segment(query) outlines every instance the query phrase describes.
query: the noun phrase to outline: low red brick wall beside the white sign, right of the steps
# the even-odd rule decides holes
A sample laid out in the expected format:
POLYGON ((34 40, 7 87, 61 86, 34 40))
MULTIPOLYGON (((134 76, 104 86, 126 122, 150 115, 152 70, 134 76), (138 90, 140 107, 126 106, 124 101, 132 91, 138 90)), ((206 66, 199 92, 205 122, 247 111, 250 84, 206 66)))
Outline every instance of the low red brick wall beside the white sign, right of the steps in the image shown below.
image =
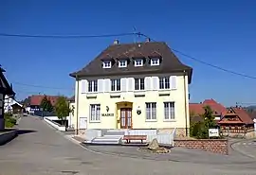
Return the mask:
POLYGON ((229 144, 227 139, 174 140, 174 147, 202 149, 214 153, 229 154, 229 144))

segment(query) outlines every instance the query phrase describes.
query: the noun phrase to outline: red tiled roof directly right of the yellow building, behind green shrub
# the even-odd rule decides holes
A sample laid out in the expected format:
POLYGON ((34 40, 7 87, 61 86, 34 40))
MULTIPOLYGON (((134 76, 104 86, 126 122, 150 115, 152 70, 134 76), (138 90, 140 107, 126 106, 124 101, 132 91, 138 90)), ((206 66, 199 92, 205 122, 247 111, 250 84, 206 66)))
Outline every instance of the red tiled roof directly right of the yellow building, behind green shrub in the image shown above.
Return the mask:
POLYGON ((204 114, 205 106, 210 106, 210 109, 213 110, 214 115, 221 115, 227 111, 222 104, 216 102, 214 99, 206 99, 203 103, 190 103, 190 112, 196 115, 204 114))

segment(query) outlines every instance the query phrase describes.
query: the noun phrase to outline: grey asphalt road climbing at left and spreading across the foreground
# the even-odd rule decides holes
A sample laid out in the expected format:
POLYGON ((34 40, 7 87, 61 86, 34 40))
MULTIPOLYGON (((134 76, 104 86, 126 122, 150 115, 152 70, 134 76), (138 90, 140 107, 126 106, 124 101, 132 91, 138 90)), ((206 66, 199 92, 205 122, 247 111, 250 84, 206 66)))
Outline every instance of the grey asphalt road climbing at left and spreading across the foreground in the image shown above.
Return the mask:
POLYGON ((24 117, 19 128, 26 131, 0 147, 1 175, 256 174, 256 164, 247 162, 239 166, 200 165, 94 153, 74 144, 35 117, 24 117))

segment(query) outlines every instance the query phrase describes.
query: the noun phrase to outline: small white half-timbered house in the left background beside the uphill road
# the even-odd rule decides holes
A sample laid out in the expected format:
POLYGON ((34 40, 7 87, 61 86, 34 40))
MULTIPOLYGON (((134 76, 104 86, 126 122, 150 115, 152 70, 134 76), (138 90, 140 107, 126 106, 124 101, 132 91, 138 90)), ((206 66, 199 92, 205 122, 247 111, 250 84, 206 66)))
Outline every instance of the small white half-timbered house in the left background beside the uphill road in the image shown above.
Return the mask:
POLYGON ((14 112, 20 113, 23 112, 23 105, 20 104, 13 96, 5 96, 5 113, 13 113, 13 108, 15 108, 14 112))

